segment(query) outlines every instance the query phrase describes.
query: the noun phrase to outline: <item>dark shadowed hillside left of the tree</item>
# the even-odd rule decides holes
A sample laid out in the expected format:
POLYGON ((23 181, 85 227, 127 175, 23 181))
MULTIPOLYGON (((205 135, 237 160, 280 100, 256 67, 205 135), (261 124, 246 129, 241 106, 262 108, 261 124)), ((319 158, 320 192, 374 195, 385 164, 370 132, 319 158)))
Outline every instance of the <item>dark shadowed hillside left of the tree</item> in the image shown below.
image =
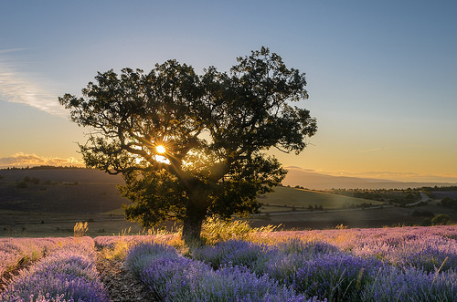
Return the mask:
POLYGON ((104 213, 123 198, 119 175, 92 169, 21 169, 0 171, 0 210, 40 213, 104 213))

